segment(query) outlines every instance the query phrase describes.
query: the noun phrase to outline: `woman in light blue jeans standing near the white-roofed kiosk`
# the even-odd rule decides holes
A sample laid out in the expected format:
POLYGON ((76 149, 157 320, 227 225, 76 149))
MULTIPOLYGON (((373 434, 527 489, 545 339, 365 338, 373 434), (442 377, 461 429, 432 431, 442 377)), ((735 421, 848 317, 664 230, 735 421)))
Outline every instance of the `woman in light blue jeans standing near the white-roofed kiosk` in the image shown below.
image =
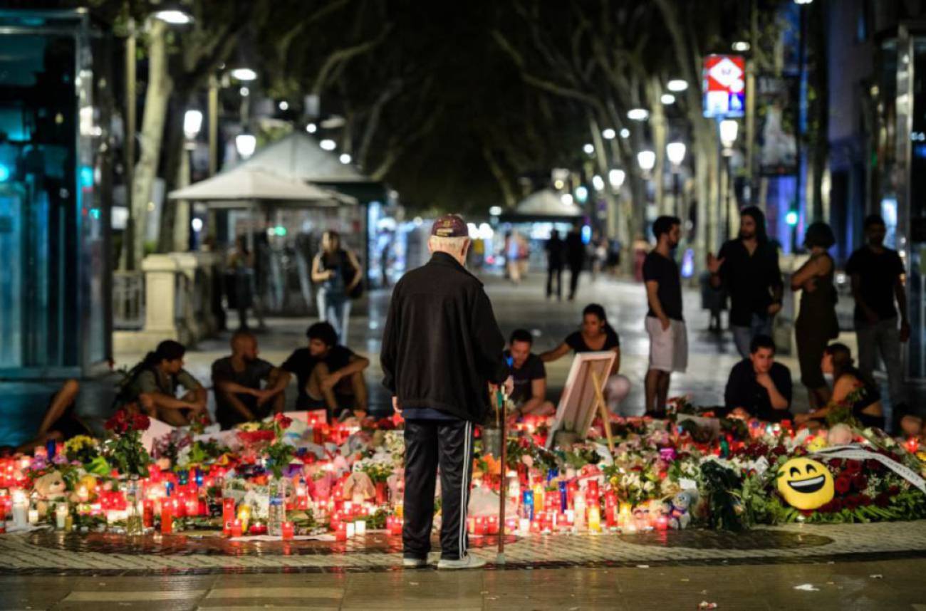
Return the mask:
POLYGON ((321 234, 321 252, 312 262, 312 281, 321 284, 318 292, 319 320, 331 323, 340 343, 347 345, 351 293, 359 289, 363 269, 357 257, 341 247, 337 231, 321 234))

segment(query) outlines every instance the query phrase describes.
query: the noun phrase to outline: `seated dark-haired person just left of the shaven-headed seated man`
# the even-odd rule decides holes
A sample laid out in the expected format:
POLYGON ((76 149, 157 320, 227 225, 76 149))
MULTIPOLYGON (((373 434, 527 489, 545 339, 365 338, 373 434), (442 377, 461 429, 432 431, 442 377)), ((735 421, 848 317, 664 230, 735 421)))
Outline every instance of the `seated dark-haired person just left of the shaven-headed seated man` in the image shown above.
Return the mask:
POLYGON ((154 352, 131 369, 123 382, 117 405, 139 405, 144 413, 174 427, 182 427, 206 416, 206 389, 183 368, 186 348, 165 340, 154 352), (177 388, 186 393, 177 398, 177 388))

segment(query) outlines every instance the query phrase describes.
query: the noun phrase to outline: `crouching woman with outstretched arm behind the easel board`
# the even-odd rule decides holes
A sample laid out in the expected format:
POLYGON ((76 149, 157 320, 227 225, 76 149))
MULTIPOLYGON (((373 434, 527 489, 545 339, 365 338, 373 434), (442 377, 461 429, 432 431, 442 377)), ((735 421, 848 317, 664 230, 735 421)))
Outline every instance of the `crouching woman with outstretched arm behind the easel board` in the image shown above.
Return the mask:
POLYGON ((617 355, 614 366, 607 378, 605 398, 607 408, 620 416, 636 416, 637 414, 621 409, 621 403, 631 392, 631 381, 621 376, 620 370, 620 339, 617 331, 607 324, 605 308, 598 304, 589 304, 582 310, 582 330, 574 331, 553 350, 544 352, 540 359, 544 363, 553 362, 569 354, 582 352, 611 351, 617 355))

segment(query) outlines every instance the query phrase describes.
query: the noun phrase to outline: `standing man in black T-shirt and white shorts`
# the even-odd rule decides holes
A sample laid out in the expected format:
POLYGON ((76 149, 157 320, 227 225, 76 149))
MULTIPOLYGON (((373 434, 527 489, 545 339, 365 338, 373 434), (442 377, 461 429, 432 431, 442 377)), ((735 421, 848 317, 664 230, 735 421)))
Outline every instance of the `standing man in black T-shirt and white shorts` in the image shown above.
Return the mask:
POLYGON ((646 371, 646 413, 661 417, 666 411, 673 371, 688 368, 688 334, 682 317, 682 275, 672 249, 682 239, 682 220, 659 217, 653 223, 656 248, 643 264, 646 283, 646 332, 649 334, 649 370, 646 371))

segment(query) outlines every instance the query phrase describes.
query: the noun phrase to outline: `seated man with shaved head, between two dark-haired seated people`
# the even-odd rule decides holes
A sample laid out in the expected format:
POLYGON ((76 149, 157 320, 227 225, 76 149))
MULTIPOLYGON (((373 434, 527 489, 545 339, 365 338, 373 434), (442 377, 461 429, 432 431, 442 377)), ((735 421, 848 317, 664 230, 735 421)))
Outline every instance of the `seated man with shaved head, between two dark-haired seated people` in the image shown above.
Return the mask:
POLYGON ((279 414, 286 402, 290 374, 257 357, 257 338, 249 330, 232 335, 232 355, 212 364, 216 419, 222 429, 279 414), (267 382, 261 388, 261 382, 267 382))

